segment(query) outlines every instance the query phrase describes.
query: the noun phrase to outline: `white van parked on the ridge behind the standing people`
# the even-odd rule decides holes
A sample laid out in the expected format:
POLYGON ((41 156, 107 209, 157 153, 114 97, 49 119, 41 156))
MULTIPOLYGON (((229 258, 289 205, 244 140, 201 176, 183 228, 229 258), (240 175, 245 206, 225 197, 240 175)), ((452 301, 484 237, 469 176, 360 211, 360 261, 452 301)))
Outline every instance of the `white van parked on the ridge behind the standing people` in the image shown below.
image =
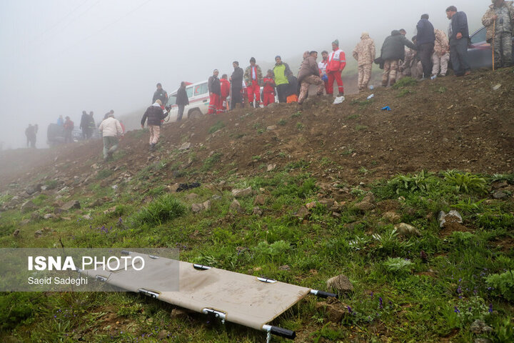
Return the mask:
MULTIPOLYGON (((176 93, 177 91, 173 91, 173 93, 168 95, 168 103, 166 106, 171 106, 168 120, 176 121, 177 118, 178 106, 175 104, 176 93)), ((186 86, 186 94, 189 99, 189 104, 184 107, 182 119, 198 118, 203 114, 207 114, 209 103, 207 80, 188 84, 186 86)))

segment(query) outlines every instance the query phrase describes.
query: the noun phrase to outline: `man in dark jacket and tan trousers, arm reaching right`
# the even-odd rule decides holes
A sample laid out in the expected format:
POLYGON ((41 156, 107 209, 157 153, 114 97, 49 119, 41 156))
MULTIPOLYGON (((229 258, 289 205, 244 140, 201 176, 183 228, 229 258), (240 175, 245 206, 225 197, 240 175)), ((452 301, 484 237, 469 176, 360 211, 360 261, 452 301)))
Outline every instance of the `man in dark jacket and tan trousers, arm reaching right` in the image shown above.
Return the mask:
POLYGON ((388 84, 393 86, 396 82, 396 72, 398 71, 398 60, 405 58, 405 46, 417 50, 412 41, 403 36, 398 30, 393 30, 383 42, 381 58, 384 61, 384 71, 382 74, 382 86, 388 84))

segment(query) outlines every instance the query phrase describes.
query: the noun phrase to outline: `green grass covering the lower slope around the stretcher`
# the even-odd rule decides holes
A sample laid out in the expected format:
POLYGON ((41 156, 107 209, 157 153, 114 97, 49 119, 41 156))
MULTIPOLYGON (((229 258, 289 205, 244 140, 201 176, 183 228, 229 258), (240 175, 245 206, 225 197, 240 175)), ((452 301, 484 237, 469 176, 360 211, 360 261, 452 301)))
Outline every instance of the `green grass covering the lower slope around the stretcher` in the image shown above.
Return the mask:
MULTIPOLYGON (((211 157, 206 159, 211 166, 221 158, 211 157)), ((312 163, 333 164, 321 156, 312 163)), ((226 179, 233 188, 251 186, 265 197, 265 204, 259 205, 262 217, 253 214, 253 196, 239 199, 243 213, 234 214, 228 190, 203 184, 168 194, 167 180, 134 178, 113 200, 114 212, 103 214, 113 204, 88 209, 90 220, 71 212, 67 214, 71 220, 49 222, 55 234, 39 239, 33 234, 41 229, 39 223, 22 227, 20 237, 11 234, 29 214, 2 212, 0 246, 54 247, 60 237, 65 247, 180 247, 183 261, 326 291, 328 278, 345 274, 355 289, 341 299, 344 305, 336 305, 345 312, 341 322, 332 322, 323 307, 317 309, 322 299, 315 297, 306 297, 273 322, 302 332, 308 342, 420 342, 420 337, 423 342, 448 337, 452 342, 473 342, 477 337, 513 342, 514 254, 508 242, 514 239, 514 204, 510 199, 492 199, 489 193, 492 182, 512 184, 510 175, 420 171, 376 180, 370 189, 345 185, 341 189, 351 190, 338 209, 340 217, 318 203, 299 219, 298 209, 325 197, 318 197, 323 190, 317 182, 323 180, 309 174, 310 169, 308 160, 292 161, 275 172, 226 179), (186 196, 192 192, 198 194, 194 202, 212 199, 214 194, 221 199, 211 202, 210 211, 193 214, 185 205, 191 203, 186 196), (367 192, 376 197, 376 208, 356 210, 354 205, 367 192), (156 199, 143 203, 148 196, 156 199), (383 219, 382 204, 393 207, 387 210, 416 227, 420 236, 402 237, 394 224, 383 219), (440 229, 437 214, 450 209, 462 214, 465 229, 440 229), (281 269, 286 264, 289 269, 281 269), (493 332, 480 336, 470 332, 475 319, 484 320, 493 332)), ((368 173, 364 167, 359 172, 368 173)), ((88 192, 104 190, 92 186, 88 192)), ((1 293, 0 339, 157 342, 161 330, 176 336, 170 342, 264 339, 262 332, 223 326, 201 314, 170 317, 173 308, 129 293, 1 293), (152 335, 143 339, 143 334, 152 335)))

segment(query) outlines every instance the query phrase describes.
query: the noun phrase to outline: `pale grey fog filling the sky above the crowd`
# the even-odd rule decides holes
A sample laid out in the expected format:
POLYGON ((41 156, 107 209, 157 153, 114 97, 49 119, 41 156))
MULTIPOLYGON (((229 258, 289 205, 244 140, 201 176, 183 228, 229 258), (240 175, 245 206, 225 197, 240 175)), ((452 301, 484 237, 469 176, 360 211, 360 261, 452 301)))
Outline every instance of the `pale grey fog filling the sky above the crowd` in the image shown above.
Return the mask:
POLYGON ((474 31, 490 1, 3 0, 0 141, 23 147, 26 126, 39 124, 44 147, 49 123, 70 116, 78 127, 83 110, 97 122, 110 109, 142 115, 157 82, 171 93, 215 68, 230 75, 232 61, 245 68, 251 56, 269 66, 339 39, 351 61, 362 31, 380 51, 393 29, 410 39, 423 13, 446 31, 450 5, 474 31))

